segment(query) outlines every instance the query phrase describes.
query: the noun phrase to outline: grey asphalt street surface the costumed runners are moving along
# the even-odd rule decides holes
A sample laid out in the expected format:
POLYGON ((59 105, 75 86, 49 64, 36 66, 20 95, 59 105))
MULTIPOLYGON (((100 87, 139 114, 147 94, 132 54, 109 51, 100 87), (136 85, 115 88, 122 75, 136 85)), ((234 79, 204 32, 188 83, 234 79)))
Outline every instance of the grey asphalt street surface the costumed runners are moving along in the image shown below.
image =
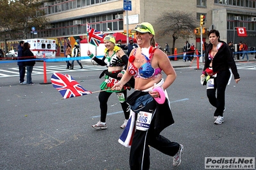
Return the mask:
MULTIPOLYGON (((175 124, 162 135, 183 144, 182 164, 173 168, 171 157, 151 148, 151 169, 204 169, 205 157, 255 157, 256 61, 237 62, 241 81, 232 79, 226 88, 222 125, 214 125, 214 107, 200 84, 196 62, 171 62, 177 79, 167 91, 175 124)), ((98 91, 103 81, 98 78, 102 69, 89 63, 83 63, 82 71, 77 65, 65 70, 64 62, 47 66, 47 82, 53 71, 69 73, 90 91, 98 91)), ((0 73, 17 72, 12 68, 17 63, 0 64, 0 73)), ((62 100, 52 84, 40 84, 42 70, 35 72, 40 73, 33 75, 33 86, 19 84, 17 75, 0 77, 0 169, 129 169, 130 150, 117 142, 124 116, 115 94, 108 101, 107 130, 94 130, 99 93, 62 100)))

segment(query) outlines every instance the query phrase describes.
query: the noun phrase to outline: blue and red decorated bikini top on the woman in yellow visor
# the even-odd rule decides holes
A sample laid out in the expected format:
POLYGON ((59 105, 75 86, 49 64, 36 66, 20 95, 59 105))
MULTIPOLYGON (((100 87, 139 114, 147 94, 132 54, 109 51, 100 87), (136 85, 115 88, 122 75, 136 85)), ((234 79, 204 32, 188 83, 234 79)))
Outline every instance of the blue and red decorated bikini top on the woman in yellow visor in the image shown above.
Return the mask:
POLYGON ((149 55, 148 55, 149 57, 147 57, 145 54, 142 54, 146 58, 147 61, 139 69, 133 65, 136 50, 137 50, 137 48, 134 50, 133 55, 130 56, 130 58, 129 58, 130 66, 128 68, 128 72, 130 73, 130 75, 133 75, 133 77, 135 77, 135 78, 149 79, 149 78, 156 76, 162 72, 161 68, 153 68, 151 66, 151 59, 152 59, 156 49, 153 49, 153 47, 149 48, 149 55))

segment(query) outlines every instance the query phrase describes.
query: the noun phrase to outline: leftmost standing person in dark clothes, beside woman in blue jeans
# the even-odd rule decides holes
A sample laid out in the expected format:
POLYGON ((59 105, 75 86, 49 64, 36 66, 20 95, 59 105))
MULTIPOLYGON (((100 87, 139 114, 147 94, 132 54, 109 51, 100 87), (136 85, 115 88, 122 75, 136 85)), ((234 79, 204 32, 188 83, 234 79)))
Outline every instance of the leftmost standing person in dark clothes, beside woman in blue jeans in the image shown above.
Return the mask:
MULTIPOLYGON (((25 72, 26 72, 26 65, 22 59, 24 59, 22 56, 22 51, 23 51, 23 45, 24 41, 19 42, 18 46, 18 62, 17 65, 19 66, 19 84, 26 84, 27 82, 24 80, 25 77, 25 72)), ((27 80, 28 81, 28 80, 27 80)))

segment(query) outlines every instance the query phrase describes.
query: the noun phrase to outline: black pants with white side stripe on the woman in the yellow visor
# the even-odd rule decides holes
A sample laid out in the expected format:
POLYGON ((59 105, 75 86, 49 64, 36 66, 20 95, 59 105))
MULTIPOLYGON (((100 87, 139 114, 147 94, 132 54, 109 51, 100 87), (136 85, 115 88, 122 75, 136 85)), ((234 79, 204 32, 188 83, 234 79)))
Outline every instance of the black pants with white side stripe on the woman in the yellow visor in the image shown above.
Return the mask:
MULTIPOLYGON (((142 111, 151 112, 155 110, 155 101, 142 109, 142 111)), ((137 114, 136 117, 137 118, 137 114)), ((161 151, 162 153, 174 156, 179 148, 180 144, 171 142, 166 137, 155 132, 155 116, 153 116, 149 130, 142 131, 136 130, 133 136, 132 146, 130 150, 130 169, 133 170, 148 170, 150 165, 150 153, 149 146, 161 151)))

